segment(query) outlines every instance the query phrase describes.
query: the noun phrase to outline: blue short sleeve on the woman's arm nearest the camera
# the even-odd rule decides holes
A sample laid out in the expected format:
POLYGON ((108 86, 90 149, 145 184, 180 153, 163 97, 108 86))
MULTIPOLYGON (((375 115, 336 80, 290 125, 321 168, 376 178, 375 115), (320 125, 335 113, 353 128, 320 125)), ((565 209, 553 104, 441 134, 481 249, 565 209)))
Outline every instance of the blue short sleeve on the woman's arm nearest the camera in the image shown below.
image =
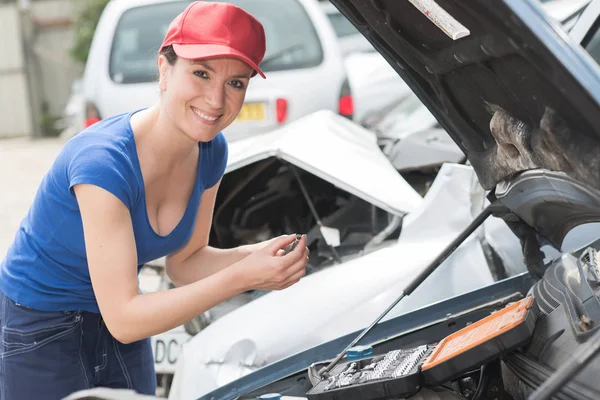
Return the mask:
POLYGON ((69 161, 69 191, 78 184, 99 186, 119 198, 129 209, 134 204, 133 167, 117 148, 100 145, 80 149, 69 161))

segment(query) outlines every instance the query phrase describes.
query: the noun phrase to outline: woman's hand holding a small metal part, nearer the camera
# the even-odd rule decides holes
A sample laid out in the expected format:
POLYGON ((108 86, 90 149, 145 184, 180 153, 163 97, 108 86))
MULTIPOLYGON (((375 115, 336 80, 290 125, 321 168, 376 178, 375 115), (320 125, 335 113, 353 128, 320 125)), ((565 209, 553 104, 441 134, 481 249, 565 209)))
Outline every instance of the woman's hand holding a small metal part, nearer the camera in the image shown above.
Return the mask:
POLYGON ((302 235, 293 251, 283 255, 283 249, 292 244, 295 236, 276 238, 264 248, 232 265, 238 270, 246 290, 282 290, 306 275, 309 254, 306 235, 302 235))

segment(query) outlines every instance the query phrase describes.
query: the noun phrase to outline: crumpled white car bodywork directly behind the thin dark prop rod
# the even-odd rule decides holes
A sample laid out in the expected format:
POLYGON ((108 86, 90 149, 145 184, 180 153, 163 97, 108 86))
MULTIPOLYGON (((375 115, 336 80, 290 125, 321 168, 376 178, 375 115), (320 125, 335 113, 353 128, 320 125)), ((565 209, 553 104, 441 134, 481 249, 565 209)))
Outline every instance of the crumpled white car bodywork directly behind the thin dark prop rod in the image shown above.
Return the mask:
MULTIPOLYGON (((169 398, 199 398, 265 365, 367 326, 482 209, 484 191, 475 185, 471 167, 445 164, 419 207, 404 217, 393 245, 313 273, 213 322, 183 345, 169 398)), ((398 194, 402 190, 391 183, 389 187, 398 194)), ((519 248, 516 238, 505 225, 490 225, 463 243, 386 319, 494 282, 498 266, 486 258, 489 233, 512 239, 508 251, 494 249, 506 268, 502 275, 525 271, 510 254, 511 248, 519 248)))

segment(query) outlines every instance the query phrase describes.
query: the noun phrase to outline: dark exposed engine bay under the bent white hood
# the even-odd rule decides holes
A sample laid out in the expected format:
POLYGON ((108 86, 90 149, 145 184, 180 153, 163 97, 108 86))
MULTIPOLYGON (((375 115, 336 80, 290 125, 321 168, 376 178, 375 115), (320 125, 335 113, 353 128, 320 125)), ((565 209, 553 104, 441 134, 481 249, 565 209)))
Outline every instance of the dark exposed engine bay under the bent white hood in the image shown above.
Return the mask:
POLYGON ((397 239, 400 221, 390 225, 393 217, 330 182, 271 157, 223 177, 210 244, 231 248, 306 233, 311 252, 307 272, 312 273, 384 240, 397 239), (328 243, 321 226, 339 232, 339 243, 328 243))

